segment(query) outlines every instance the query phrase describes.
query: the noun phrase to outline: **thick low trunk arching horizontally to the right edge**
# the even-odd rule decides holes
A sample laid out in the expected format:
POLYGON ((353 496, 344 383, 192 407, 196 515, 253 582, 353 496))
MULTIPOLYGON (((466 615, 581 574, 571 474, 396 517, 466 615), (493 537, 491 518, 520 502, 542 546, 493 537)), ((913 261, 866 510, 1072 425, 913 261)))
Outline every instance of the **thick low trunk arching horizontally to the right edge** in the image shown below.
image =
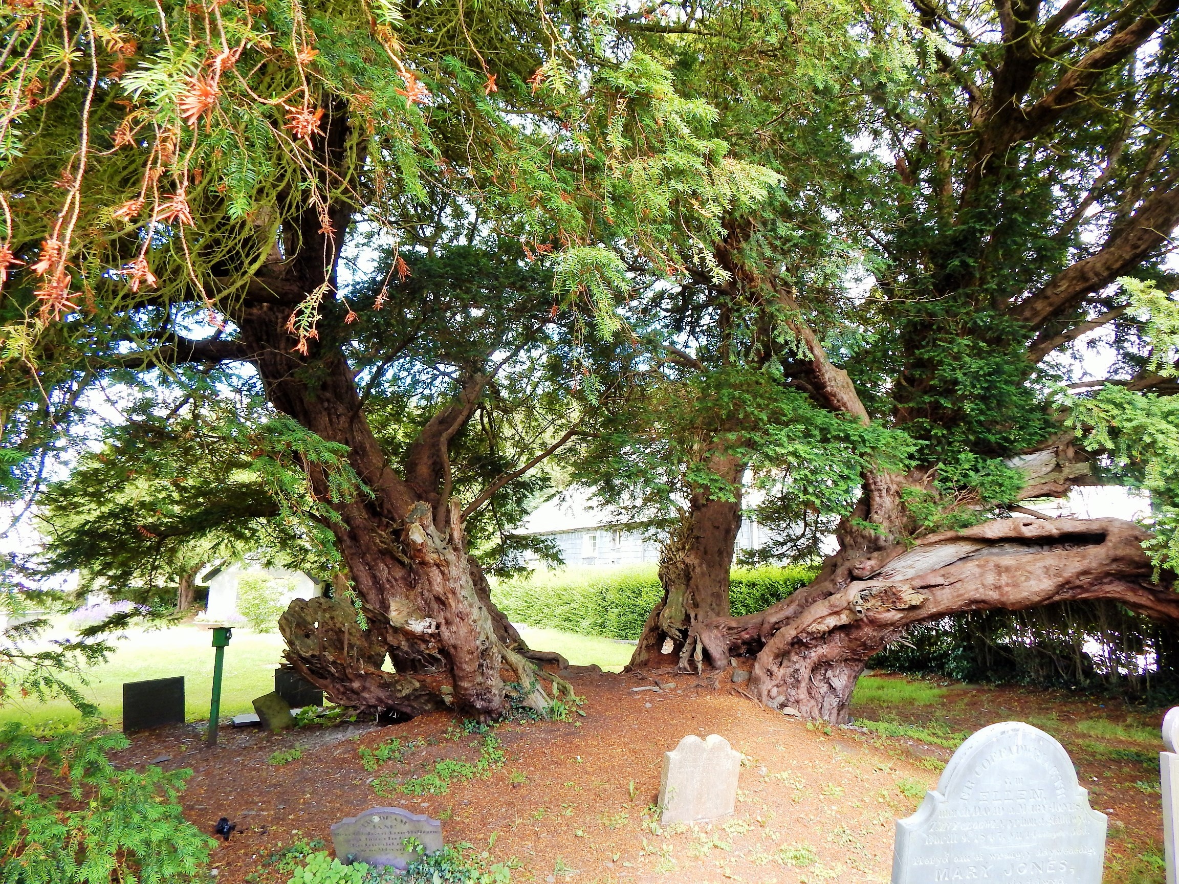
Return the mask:
POLYGON ((766 706, 843 724, 868 658, 916 622, 1109 599, 1179 624, 1179 594, 1152 581, 1147 536, 1119 519, 996 519, 897 545, 861 578, 821 576, 759 614, 714 619, 702 639, 713 659, 755 655, 751 688, 766 706))

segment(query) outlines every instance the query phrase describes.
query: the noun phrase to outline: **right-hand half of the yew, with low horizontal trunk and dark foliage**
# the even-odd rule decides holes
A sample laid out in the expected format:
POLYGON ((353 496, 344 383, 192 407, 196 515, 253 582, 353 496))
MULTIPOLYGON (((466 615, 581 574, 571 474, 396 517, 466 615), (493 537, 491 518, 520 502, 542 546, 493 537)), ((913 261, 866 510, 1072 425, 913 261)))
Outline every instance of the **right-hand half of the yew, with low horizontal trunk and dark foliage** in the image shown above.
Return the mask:
MULTIPOLYGON (((1162 440, 1175 434, 1153 391, 1174 376, 1177 6, 922 0, 849 24, 855 48, 828 40, 822 64, 806 37, 862 11, 719 5, 624 20, 637 46, 676 60, 685 94, 718 107, 716 131, 740 156, 782 174, 771 199, 724 222, 710 256, 723 282, 684 282, 679 304, 697 311, 667 298, 676 368, 664 372, 712 375, 740 348, 782 395, 913 444, 894 449, 901 468, 861 449, 869 463, 854 488, 835 483, 837 506, 805 492, 837 454, 762 457, 763 521, 788 534, 825 525, 837 552, 758 615, 666 628, 657 611, 637 664, 659 662, 665 638, 680 654, 698 641, 713 666, 751 655, 763 702, 841 721, 867 659, 909 624, 1085 599, 1175 622, 1170 576, 1153 567, 1165 540, 1115 520, 1046 520, 1019 501, 1095 481, 1105 456, 1107 473, 1152 487, 1164 533, 1173 521, 1158 479, 1172 470, 1150 462, 1171 456, 1162 440), (1074 380, 1076 342, 1100 330, 1114 377, 1073 384, 1105 384, 1100 404, 1053 392, 1074 380), (1094 431, 1086 451, 1074 434, 1094 431), (1005 513, 1016 515, 992 519, 1005 513)), ((692 487, 736 510, 738 470, 713 464, 756 464, 766 422, 705 416, 692 429, 692 487)), ((645 447, 631 434, 618 450, 645 447)), ((736 533, 699 519, 694 496, 685 512, 702 552, 736 533)), ((724 581, 702 581, 689 611, 725 598, 724 581)))

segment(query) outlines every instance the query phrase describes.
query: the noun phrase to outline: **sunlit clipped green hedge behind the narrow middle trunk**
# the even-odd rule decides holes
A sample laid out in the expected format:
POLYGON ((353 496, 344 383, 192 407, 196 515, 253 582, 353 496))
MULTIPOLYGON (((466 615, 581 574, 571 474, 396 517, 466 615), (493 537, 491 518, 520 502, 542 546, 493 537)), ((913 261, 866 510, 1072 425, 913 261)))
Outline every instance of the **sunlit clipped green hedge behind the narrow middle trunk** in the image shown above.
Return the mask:
MULTIPOLYGON (((815 572, 799 565, 733 568, 732 613, 763 611, 805 586, 815 572)), ((607 639, 638 639, 647 614, 661 598, 654 565, 538 570, 492 587, 492 599, 514 622, 607 639)))

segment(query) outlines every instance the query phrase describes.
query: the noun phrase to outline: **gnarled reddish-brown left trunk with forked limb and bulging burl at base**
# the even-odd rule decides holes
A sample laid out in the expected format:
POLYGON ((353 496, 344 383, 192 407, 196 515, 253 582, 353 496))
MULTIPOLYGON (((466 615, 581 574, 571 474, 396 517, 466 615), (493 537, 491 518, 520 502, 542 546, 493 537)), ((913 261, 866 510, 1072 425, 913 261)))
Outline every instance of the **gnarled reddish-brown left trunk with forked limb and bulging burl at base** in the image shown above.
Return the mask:
MULTIPOLYGON (((318 146, 329 167, 345 167, 347 112, 338 103, 328 110, 318 146)), ((325 190, 336 187, 331 183, 325 190)), ((322 211, 312 204, 286 219, 279 231, 283 248, 274 244, 231 312, 238 328, 231 357, 253 363, 278 411, 345 446, 348 463, 367 488, 338 500, 324 468, 304 464, 315 497, 331 501, 336 517, 324 522, 347 573, 334 580, 342 603, 292 603, 283 615, 286 658, 334 701, 365 710, 413 715, 437 708, 444 695, 460 711, 487 719, 505 708, 507 677, 520 684, 525 702, 545 711, 548 700, 538 681, 544 673, 522 655, 527 647, 494 611, 452 497, 449 444, 474 414, 489 377, 468 374, 395 469, 368 423, 344 351, 331 339, 330 317, 321 318, 310 337, 292 330, 292 311, 310 292, 336 289, 338 246, 350 220, 347 199, 322 211), (358 612, 343 596, 355 596, 358 612), (357 613, 368 621, 367 632, 360 631, 357 613), (386 655, 393 673, 381 668, 386 655)))

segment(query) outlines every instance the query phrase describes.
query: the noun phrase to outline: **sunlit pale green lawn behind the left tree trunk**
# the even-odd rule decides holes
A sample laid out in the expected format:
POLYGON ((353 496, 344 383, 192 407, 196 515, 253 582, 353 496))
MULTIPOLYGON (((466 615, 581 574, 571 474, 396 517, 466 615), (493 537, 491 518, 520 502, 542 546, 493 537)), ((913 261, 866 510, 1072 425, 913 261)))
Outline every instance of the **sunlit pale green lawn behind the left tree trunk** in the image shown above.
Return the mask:
MULTIPOLYGON (((611 639, 575 635, 560 629, 522 627, 529 646, 556 651, 580 666, 598 664, 617 672, 631 659, 633 645, 611 639)), ((190 721, 209 718, 213 679, 212 633, 195 626, 169 629, 129 629, 116 641, 116 652, 101 666, 86 673, 83 694, 101 710, 112 724, 123 720, 123 682, 184 675, 185 714, 190 721)), ((222 715, 252 712, 250 701, 275 688, 274 671, 282 660, 283 640, 277 633, 259 635, 237 628, 225 648, 225 677, 222 686, 222 715)), ((78 713, 65 700, 39 704, 35 700, 0 708, 0 721, 29 724, 73 723, 78 713)))

